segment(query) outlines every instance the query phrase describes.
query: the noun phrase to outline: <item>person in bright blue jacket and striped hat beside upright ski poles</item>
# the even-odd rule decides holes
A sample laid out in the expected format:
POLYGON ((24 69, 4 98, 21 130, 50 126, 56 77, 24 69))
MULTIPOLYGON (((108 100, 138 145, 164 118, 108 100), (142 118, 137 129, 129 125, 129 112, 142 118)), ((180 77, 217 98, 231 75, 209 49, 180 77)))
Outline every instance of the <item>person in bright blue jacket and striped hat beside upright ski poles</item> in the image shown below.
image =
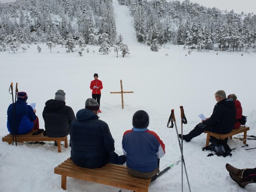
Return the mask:
MULTIPOLYGON (((27 98, 28 96, 26 92, 18 92, 15 108, 15 135, 26 134, 32 130, 39 129, 36 109, 33 110, 33 108, 27 104, 27 98)), ((7 110, 7 129, 13 134, 13 103, 9 105, 7 110)))

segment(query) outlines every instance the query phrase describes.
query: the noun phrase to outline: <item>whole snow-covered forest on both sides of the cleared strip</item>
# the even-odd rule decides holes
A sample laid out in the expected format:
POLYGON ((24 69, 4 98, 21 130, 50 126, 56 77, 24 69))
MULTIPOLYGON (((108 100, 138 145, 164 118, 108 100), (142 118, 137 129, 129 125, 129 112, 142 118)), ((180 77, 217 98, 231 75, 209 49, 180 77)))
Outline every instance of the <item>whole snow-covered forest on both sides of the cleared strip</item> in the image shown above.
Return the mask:
MULTIPOLYGON (((206 8, 189 0, 118 2, 128 6, 134 17, 138 42, 149 45, 152 51, 158 51, 159 45, 168 42, 198 51, 248 52, 249 48, 255 51, 256 15, 253 13, 206 8)), ((116 32, 112 0, 0 3, 0 51, 9 48, 15 53, 20 44, 45 42, 49 48, 65 45, 67 52, 73 51, 75 44, 82 51, 86 44, 100 45, 103 54, 108 54, 114 45, 114 51, 122 51, 124 56, 129 54, 129 48, 122 40, 116 32)))

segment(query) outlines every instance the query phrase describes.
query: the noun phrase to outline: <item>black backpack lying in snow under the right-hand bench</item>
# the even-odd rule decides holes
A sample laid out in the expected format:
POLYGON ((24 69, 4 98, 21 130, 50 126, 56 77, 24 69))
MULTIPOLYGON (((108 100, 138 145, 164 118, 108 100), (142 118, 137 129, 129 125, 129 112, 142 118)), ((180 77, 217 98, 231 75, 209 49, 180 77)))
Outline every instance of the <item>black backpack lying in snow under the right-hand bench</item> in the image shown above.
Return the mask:
POLYGON ((218 155, 218 156, 223 156, 223 157, 226 157, 228 155, 232 155, 231 154, 231 149, 230 147, 228 146, 228 140, 226 139, 214 139, 212 144, 210 144, 209 146, 207 147, 203 147, 202 148, 203 151, 204 150, 211 150, 211 151, 215 151, 216 153, 215 154, 208 154, 207 156, 212 156, 212 155, 218 155))

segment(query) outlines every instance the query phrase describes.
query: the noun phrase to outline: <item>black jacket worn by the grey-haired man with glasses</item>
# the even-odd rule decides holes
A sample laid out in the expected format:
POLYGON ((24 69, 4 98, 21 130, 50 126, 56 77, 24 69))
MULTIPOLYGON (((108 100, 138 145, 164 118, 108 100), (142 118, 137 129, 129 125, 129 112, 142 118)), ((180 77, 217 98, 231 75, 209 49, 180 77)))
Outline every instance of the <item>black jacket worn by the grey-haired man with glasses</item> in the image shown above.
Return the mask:
POLYGON ((210 125, 216 133, 226 134, 234 129, 235 121, 235 102, 230 98, 218 102, 214 106, 211 117, 203 121, 203 124, 210 125))

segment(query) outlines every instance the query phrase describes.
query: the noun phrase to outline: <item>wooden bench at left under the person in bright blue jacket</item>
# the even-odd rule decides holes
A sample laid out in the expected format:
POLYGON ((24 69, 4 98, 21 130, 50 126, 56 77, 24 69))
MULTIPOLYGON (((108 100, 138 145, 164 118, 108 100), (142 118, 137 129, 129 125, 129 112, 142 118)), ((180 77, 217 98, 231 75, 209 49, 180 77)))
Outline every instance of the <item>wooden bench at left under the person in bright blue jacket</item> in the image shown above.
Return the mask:
MULTIPOLYGON (((57 141, 58 143, 58 152, 61 152, 61 141, 65 142, 65 148, 68 147, 68 139, 67 136, 65 137, 48 137, 44 136, 43 132, 39 133, 38 135, 32 135, 33 132, 36 130, 32 130, 31 132, 24 134, 24 135, 16 135, 17 142, 23 143, 24 141, 57 141)), ((3 142, 8 142, 11 144, 13 142, 13 135, 8 134, 7 136, 2 138, 3 142)), ((14 142, 15 142, 15 136, 14 136, 14 142)))

